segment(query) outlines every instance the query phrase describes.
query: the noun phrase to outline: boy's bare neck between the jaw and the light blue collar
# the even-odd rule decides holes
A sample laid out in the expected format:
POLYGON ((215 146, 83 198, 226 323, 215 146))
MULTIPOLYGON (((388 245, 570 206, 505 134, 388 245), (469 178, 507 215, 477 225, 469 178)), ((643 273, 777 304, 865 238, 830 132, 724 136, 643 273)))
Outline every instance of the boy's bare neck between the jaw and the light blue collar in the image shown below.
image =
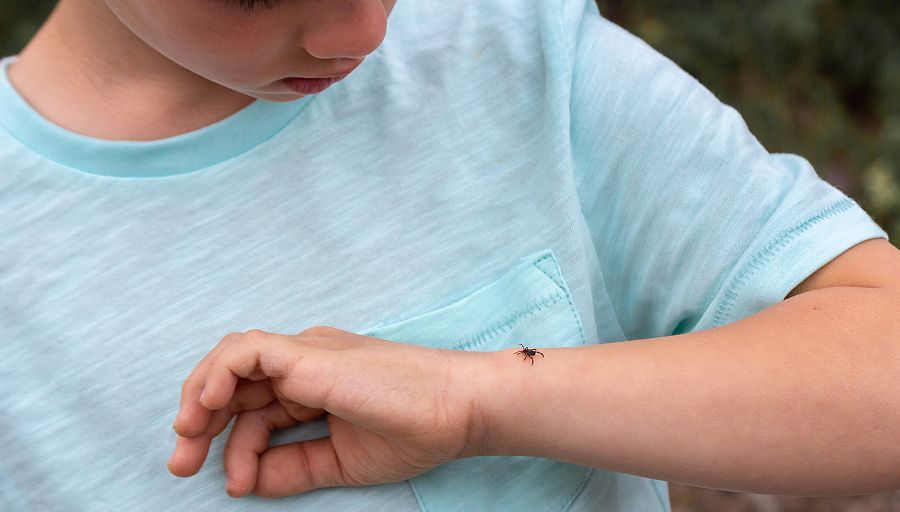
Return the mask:
POLYGON ((147 46, 96 0, 61 0, 8 69, 38 113, 101 139, 171 137, 253 101, 147 46))

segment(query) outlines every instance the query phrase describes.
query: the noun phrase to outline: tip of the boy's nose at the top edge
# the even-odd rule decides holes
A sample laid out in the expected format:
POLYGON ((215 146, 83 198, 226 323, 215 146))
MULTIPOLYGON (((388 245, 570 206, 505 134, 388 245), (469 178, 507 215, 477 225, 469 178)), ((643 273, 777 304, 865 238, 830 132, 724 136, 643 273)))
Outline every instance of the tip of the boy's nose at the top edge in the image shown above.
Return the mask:
POLYGON ((300 44, 315 58, 362 59, 384 40, 389 7, 382 0, 328 0, 313 17, 300 44))

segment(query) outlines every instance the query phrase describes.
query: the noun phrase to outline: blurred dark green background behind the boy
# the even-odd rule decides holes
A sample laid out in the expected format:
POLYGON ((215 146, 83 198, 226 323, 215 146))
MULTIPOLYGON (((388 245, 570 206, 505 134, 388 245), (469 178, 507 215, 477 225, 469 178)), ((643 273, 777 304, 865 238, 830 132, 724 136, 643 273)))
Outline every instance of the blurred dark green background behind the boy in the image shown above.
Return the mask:
MULTIPOLYGON (((152 1, 152 0, 148 0, 152 1)), ((400 0, 417 1, 417 0, 400 0)), ((55 4, 0 0, 0 55, 55 4)), ((736 108, 771 152, 796 153, 900 242, 900 9, 840 0, 598 0, 736 108)), ((898 511, 900 492, 796 498, 672 484, 673 512, 898 511)))

